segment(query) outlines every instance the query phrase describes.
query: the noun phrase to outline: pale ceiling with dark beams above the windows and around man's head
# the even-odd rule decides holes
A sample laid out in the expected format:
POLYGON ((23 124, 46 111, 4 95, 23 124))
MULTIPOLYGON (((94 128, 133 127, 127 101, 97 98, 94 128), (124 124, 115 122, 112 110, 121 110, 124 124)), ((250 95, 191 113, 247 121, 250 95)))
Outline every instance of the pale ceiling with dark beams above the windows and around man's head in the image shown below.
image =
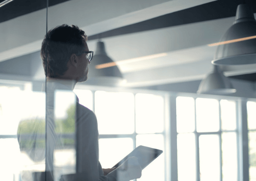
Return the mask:
MULTIPOLYGON (((245 0, 256 13, 256 3, 245 0)), ((127 82, 142 87, 201 80, 212 71, 216 43, 233 24, 243 0, 49 0, 48 29, 67 23, 99 37, 127 82)), ((41 42, 46 34, 46 1, 14 0, 0 8, 0 79, 43 80, 41 42)), ((256 80, 256 65, 222 66, 227 76, 256 80)), ((89 73, 90 76, 90 73, 89 73)))

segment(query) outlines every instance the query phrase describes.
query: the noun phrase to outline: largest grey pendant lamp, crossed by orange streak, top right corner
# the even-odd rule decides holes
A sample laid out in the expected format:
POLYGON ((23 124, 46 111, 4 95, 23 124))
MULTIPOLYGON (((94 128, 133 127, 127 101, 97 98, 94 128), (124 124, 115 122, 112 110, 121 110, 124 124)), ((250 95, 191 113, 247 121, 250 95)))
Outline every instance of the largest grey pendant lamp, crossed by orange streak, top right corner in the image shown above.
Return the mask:
POLYGON ((247 4, 240 4, 236 10, 235 22, 221 37, 212 64, 253 63, 256 63, 256 20, 252 8, 247 4))

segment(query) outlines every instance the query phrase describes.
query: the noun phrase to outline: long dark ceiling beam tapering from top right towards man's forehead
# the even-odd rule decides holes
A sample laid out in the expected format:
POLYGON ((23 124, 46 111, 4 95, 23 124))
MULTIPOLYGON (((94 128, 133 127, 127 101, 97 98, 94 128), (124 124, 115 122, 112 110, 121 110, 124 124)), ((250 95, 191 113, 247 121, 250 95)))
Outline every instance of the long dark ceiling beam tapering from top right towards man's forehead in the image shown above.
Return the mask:
MULTIPOLYGON (((167 28, 171 26, 179 26, 189 23, 198 23, 208 20, 216 20, 226 17, 236 16, 236 8, 243 0, 217 0, 210 3, 195 6, 189 9, 165 14, 150 20, 135 23, 121 28, 113 29, 100 34, 94 34, 88 37, 88 40, 95 40, 105 37, 113 37, 123 34, 143 32, 153 29, 167 28)), ((247 1, 246 1, 247 2, 247 1)), ((248 1, 256 13, 255 3, 248 1)), ((209 32, 210 33, 210 32, 209 32)))

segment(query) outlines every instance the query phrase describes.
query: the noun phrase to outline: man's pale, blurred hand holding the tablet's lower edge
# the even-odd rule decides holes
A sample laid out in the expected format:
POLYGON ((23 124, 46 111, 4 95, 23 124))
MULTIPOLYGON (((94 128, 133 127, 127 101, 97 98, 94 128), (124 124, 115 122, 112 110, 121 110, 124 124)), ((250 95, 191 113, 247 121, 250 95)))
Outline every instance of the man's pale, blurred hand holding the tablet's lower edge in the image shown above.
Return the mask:
POLYGON ((116 171, 118 181, 130 181, 135 178, 140 178, 142 169, 137 157, 129 157, 116 171))

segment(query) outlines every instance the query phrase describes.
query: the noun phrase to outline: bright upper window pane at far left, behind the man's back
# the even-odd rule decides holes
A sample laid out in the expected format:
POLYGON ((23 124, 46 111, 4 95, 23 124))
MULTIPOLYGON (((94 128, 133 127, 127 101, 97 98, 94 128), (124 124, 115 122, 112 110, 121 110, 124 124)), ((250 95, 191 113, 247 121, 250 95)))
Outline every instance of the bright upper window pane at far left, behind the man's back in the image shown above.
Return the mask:
POLYGON ((45 116, 45 95, 41 92, 0 86, 0 95, 5 95, 0 96, 0 135, 16 135, 20 120, 45 116))

